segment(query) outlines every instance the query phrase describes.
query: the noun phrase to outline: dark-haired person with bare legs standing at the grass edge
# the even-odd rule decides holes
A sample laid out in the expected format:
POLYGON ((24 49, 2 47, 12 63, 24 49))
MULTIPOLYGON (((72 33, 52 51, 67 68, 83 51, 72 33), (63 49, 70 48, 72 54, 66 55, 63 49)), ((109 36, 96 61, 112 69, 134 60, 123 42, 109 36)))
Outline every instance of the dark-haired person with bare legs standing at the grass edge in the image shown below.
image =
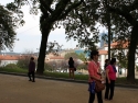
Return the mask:
POLYGON ((73 60, 73 57, 70 57, 70 60, 68 60, 68 71, 70 71, 70 78, 74 79, 74 60, 73 60))

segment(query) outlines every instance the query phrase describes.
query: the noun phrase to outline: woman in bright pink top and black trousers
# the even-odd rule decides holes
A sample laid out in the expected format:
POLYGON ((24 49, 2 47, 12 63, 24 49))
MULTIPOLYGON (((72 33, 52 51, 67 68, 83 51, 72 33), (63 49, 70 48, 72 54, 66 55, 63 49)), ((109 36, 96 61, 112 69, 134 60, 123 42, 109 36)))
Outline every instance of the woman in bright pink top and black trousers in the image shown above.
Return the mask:
POLYGON ((116 81, 116 58, 112 58, 110 65, 106 67, 105 100, 113 100, 116 81), (109 93, 110 91, 110 93, 109 93))

